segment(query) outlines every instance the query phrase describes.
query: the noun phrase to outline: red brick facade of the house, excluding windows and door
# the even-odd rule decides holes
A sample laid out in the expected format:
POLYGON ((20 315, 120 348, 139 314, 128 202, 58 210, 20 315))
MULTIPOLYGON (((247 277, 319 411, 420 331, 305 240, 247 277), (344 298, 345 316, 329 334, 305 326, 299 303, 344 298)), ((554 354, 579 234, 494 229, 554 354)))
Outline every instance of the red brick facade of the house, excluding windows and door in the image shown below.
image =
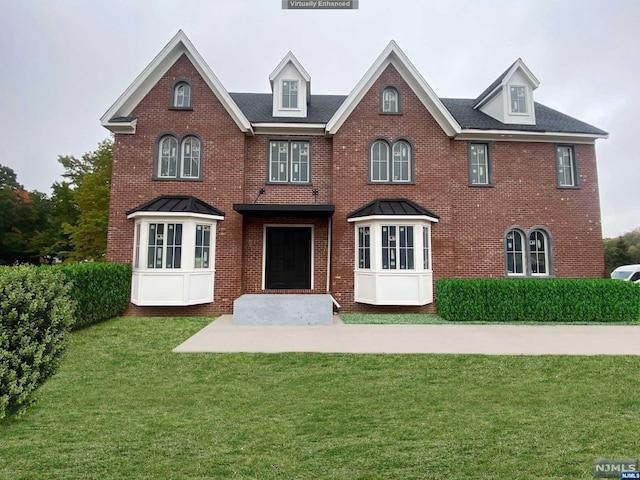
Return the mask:
MULTIPOLYGON (((125 212, 160 195, 193 195, 225 213, 217 224, 214 302, 191 307, 137 307, 136 315, 214 315, 230 312, 244 293, 262 293, 264 228, 313 228, 313 285, 328 291, 343 311, 433 311, 376 307, 354 301, 354 225, 347 214, 379 198, 406 198, 439 215, 432 226, 433 278, 504 277, 504 235, 509 227, 544 227, 553 276, 603 275, 600 208, 593 144, 575 144, 580 188, 558 188, 555 144, 490 143, 492 186, 469 186, 468 142, 447 136, 403 77, 387 67, 333 136, 310 140, 311 185, 267 182, 269 140, 295 135, 245 135, 205 80, 183 55, 135 107, 135 134, 116 134, 107 259, 131 263, 134 220, 125 212), (169 108, 172 85, 188 79, 193 108, 169 108), (399 115, 380 113, 380 92, 395 86, 399 115), (202 180, 154 179, 157 141, 164 133, 202 140, 202 180), (370 144, 405 139, 413 149, 411 184, 369 182, 370 144), (327 218, 243 217, 234 203, 332 204, 327 218), (317 195, 313 190, 317 189, 317 195), (331 240, 330 240, 331 239, 331 240)), ((291 293, 290 290, 284 291, 291 293)), ((273 293, 273 291, 269 291, 273 293)), ((437 292, 436 292, 437 293, 437 292)))

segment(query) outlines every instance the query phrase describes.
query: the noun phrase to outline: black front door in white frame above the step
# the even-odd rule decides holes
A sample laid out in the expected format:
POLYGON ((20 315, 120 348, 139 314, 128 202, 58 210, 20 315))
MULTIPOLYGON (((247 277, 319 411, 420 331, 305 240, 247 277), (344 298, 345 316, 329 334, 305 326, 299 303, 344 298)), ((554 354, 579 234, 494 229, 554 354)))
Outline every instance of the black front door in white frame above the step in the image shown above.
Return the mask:
POLYGON ((311 228, 267 227, 265 287, 311 288, 311 228))

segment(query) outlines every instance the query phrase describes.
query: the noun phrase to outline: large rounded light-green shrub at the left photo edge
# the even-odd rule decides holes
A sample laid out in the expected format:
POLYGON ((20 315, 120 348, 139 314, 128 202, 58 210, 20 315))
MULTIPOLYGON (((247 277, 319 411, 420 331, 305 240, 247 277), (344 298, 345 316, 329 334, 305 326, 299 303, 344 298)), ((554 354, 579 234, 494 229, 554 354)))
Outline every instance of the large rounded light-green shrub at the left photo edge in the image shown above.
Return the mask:
POLYGON ((60 272, 0 267, 0 418, 28 405, 58 368, 73 324, 69 290, 60 272))

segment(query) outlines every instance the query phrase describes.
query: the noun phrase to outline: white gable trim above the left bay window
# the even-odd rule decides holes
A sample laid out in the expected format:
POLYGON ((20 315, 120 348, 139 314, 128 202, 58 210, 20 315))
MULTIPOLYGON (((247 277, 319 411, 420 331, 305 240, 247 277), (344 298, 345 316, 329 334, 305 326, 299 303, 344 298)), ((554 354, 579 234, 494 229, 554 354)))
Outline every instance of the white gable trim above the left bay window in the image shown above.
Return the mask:
MULTIPOLYGON (((218 80, 182 30, 178 31, 162 51, 147 65, 142 73, 138 75, 133 83, 129 85, 120 98, 118 98, 102 118, 100 118, 100 123, 104 127, 110 128, 113 126, 114 119, 130 117, 140 101, 182 55, 187 56, 220 103, 222 103, 227 112, 229 112, 229 115, 231 115, 231 118, 236 122, 238 128, 245 133, 253 133, 249 120, 247 120, 235 104, 222 83, 220 83, 220 80, 218 80)), ((116 123, 119 123, 121 126, 123 122, 120 121, 116 123)))

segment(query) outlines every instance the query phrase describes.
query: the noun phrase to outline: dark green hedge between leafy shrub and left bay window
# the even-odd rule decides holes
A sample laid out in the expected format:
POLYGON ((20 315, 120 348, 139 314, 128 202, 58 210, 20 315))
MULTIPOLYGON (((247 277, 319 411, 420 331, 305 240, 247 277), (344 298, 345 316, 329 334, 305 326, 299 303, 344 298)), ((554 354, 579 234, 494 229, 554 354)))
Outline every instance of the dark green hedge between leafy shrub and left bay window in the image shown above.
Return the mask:
POLYGON ((77 302, 75 328, 117 317, 131 293, 131 266, 121 263, 80 263, 54 267, 72 283, 77 302))

